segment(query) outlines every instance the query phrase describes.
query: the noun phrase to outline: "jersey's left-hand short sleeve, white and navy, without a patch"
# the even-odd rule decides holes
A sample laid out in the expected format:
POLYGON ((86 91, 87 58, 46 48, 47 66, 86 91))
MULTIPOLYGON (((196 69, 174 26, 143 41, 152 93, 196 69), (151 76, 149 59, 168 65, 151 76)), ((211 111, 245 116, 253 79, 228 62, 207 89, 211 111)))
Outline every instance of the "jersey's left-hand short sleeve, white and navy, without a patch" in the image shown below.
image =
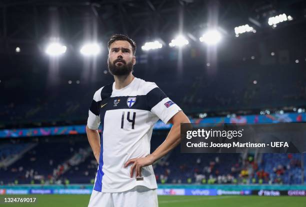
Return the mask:
POLYGON ((98 129, 100 125, 101 90, 102 87, 94 93, 93 99, 88 110, 87 126, 88 128, 93 130, 98 129))

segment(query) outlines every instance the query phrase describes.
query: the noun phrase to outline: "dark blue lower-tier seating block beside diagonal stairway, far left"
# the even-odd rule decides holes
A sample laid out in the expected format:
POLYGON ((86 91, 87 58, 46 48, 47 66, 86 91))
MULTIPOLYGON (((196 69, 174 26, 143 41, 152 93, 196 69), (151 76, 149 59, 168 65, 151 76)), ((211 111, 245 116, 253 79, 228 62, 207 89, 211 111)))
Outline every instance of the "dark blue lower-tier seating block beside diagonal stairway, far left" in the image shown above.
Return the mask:
MULTIPOLYGON (((24 143, 21 143, 21 146, 29 143, 36 143, 36 145, 8 167, 1 168, 0 181, 14 183, 17 180, 18 183, 30 183, 33 180, 35 183, 40 183, 41 180, 46 181, 57 177, 53 174, 55 169, 80 148, 88 147, 87 142, 74 141, 66 137, 50 136, 23 140, 24 143)), ((84 136, 81 136, 82 138, 84 136)))

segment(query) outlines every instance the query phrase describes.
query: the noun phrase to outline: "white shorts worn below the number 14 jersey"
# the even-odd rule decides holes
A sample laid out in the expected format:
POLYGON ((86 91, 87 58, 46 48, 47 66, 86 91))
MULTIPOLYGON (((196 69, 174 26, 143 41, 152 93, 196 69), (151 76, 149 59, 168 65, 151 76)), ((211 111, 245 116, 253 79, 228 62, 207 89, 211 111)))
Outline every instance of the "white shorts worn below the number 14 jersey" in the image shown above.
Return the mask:
POLYGON ((158 207, 156 189, 137 185, 124 192, 92 190, 88 207, 158 207))

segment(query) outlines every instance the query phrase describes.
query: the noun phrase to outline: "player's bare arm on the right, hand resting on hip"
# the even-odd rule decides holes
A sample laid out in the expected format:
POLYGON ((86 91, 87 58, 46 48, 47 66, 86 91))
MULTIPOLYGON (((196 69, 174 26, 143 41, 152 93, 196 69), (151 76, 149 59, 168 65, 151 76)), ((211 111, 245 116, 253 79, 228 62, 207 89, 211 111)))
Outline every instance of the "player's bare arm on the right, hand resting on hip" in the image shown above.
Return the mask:
POLYGON ((165 138, 165 140, 148 156, 141 158, 129 159, 125 162, 124 167, 128 164, 133 163, 130 168, 130 177, 133 175, 135 169, 136 177, 141 176, 141 167, 152 164, 154 161, 159 159, 173 149, 180 142, 180 123, 190 123, 188 117, 182 112, 177 112, 170 120, 172 127, 165 138))

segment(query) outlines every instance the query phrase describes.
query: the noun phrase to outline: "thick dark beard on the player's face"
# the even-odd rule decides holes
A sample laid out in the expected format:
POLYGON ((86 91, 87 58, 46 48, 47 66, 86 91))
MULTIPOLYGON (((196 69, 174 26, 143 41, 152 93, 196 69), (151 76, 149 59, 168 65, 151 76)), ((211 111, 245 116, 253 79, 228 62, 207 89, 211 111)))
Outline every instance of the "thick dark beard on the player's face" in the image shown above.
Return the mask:
POLYGON ((107 58, 108 71, 112 75, 128 75, 133 71, 133 62, 125 62, 123 59, 116 59, 113 62, 107 58), (116 62, 121 62, 121 65, 116 65, 116 62))

